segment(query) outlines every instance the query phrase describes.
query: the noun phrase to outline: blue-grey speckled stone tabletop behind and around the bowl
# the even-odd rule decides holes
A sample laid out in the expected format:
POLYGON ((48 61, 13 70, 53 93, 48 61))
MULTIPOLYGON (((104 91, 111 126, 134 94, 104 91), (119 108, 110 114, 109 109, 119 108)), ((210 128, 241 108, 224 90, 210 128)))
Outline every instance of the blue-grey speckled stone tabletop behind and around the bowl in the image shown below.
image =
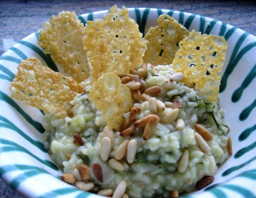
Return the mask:
MULTIPOLYGON (((77 15, 106 10, 113 5, 119 8, 148 7, 190 12, 229 23, 256 35, 256 3, 230 0, 0 0, 0 55, 12 45, 39 30, 43 22, 59 12, 75 11, 77 15)), ((0 179, 0 198, 22 198, 0 179)))

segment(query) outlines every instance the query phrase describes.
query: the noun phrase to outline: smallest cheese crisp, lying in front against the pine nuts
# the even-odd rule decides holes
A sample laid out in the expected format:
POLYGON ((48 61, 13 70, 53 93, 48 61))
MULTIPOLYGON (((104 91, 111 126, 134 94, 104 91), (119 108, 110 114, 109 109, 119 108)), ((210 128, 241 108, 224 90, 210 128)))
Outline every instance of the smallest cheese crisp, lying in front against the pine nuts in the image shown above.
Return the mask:
POLYGON ((106 73, 92 85, 89 100, 103 112, 107 126, 116 130, 120 129, 123 114, 133 106, 130 89, 113 72, 106 73))

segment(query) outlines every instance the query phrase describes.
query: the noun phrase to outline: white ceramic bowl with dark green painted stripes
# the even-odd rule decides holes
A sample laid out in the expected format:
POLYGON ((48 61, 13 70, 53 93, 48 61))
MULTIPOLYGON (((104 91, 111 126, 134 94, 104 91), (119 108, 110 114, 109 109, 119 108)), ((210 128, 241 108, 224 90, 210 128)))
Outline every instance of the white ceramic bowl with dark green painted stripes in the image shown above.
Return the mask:
MULTIPOLYGON (((79 16, 82 23, 100 19, 107 10, 79 16)), ((166 9, 129 8, 143 35, 157 18, 168 14, 189 31, 224 36, 228 50, 220 86, 221 107, 230 126, 233 155, 219 167, 214 182, 187 194, 191 197, 255 197, 256 195, 256 37, 208 17, 166 9)), ((16 43, 0 57, 0 176, 27 197, 101 197, 60 180, 62 171, 43 148, 43 114, 10 97, 9 86, 21 60, 37 57, 58 66, 37 44, 39 31, 16 43)))

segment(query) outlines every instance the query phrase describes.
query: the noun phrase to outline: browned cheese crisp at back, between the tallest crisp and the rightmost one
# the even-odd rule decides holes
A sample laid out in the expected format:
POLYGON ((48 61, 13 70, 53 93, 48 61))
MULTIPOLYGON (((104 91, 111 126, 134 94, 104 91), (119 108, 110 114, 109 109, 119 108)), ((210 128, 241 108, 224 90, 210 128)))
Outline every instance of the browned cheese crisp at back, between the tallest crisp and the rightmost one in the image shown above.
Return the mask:
POLYGON ((157 23, 158 26, 151 27, 144 37, 148 43, 143 61, 152 65, 169 65, 188 30, 167 14, 160 15, 157 23))

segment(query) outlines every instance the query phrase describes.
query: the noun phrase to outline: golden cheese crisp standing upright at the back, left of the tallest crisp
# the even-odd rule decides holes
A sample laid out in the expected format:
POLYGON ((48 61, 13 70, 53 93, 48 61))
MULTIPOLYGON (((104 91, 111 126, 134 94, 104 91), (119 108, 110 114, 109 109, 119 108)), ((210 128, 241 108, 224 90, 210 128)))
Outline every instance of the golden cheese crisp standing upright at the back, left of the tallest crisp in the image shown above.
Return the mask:
POLYGON ((64 72, 77 82, 90 76, 90 68, 83 48, 82 36, 84 26, 75 12, 61 12, 43 23, 39 31, 38 44, 64 72))

